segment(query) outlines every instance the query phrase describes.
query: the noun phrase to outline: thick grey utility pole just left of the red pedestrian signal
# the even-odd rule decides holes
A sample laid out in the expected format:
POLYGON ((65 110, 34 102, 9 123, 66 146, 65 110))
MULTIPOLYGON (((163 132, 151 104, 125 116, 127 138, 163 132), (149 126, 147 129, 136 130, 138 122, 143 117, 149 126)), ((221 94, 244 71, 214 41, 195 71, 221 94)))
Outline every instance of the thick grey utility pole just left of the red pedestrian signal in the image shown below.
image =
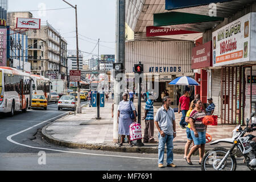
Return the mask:
POLYGON ((115 64, 114 67, 114 122, 113 122, 113 142, 118 142, 117 108, 122 100, 121 81, 119 73, 125 73, 125 0, 117 0, 116 8, 116 31, 115 31, 115 64), (119 64, 119 65, 118 65, 119 64))

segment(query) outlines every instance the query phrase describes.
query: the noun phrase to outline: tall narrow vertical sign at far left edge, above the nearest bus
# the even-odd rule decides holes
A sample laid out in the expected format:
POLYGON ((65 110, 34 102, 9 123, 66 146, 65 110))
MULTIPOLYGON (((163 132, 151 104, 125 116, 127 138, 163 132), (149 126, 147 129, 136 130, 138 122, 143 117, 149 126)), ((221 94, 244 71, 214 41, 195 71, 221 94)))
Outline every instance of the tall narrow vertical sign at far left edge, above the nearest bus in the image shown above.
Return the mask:
POLYGON ((7 30, 0 29, 0 67, 6 67, 6 39, 7 30))

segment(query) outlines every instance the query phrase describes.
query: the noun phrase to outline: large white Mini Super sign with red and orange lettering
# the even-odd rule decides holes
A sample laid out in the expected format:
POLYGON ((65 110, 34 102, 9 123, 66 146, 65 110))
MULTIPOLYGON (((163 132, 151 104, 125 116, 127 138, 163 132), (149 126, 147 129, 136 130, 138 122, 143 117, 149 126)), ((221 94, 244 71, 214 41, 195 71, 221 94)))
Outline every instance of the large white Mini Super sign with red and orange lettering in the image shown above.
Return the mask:
POLYGON ((212 33, 213 67, 255 61, 256 13, 249 13, 212 33))

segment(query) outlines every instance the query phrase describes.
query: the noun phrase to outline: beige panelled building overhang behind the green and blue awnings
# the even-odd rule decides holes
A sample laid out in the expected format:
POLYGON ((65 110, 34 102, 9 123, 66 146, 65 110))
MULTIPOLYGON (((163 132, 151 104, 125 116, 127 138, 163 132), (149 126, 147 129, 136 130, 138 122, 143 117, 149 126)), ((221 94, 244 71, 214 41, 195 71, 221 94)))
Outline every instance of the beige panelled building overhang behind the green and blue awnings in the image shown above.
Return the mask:
MULTIPOLYGON (((147 26, 154 25, 154 14, 169 13, 169 12, 181 12, 191 13, 198 15, 209 16, 209 3, 207 5, 200 6, 193 5, 193 7, 181 7, 175 10, 166 10, 167 0, 129 0, 126 1, 126 23, 134 32, 146 32, 147 26)), ((179 0, 180 3, 188 2, 188 0, 179 0)), ((204 0, 196 0, 197 2, 205 2, 204 0)), ((190 1, 190 5, 196 1, 190 1)), ((177 2, 177 1, 175 1, 177 2)), ((237 13, 238 10, 243 7, 254 3, 255 0, 240 0, 216 3, 216 12, 219 18, 228 18, 237 13)), ((203 3, 201 3, 202 5, 203 3)), ((178 7, 177 7, 178 8, 178 7)), ((222 20, 213 22, 196 22, 196 23, 184 23, 172 25, 173 28, 179 28, 181 30, 200 31, 204 32, 209 28, 216 27, 222 20)))

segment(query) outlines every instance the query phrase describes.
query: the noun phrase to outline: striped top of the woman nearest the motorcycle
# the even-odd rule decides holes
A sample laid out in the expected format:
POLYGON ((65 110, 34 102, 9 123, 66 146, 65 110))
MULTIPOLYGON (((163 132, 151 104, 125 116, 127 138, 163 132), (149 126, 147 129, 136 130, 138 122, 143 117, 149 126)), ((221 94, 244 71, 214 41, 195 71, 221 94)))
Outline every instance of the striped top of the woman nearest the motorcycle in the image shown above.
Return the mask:
POLYGON ((195 128, 196 131, 200 132, 200 131, 205 131, 206 127, 203 124, 203 119, 205 117, 205 112, 203 110, 201 110, 201 112, 197 111, 197 110, 192 110, 189 118, 193 119, 193 122, 195 123, 195 128))

